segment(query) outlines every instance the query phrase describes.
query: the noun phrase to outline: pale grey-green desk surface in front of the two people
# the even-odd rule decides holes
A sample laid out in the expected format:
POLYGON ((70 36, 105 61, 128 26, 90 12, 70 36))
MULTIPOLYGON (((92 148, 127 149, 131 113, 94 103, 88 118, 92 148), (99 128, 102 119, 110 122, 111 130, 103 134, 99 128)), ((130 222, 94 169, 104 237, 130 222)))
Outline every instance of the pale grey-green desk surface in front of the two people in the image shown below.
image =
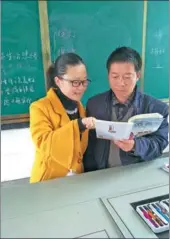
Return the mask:
POLYGON ((109 236, 123 237, 116 224, 111 222, 109 213, 99 199, 119 197, 168 185, 168 174, 161 169, 163 163, 167 161, 168 158, 160 158, 42 183, 23 185, 18 180, 14 185, 3 186, 1 188, 2 236, 77 237, 82 235, 83 237, 89 234, 92 238, 90 233, 93 231, 94 237, 105 235, 107 238, 107 233, 110 231, 109 236), (70 223, 72 220, 84 225, 79 226, 79 229, 76 227, 76 234, 73 233, 73 225, 70 223), (97 224, 95 220, 98 220, 97 224), (35 226, 39 221, 41 221, 39 226, 35 226), (50 223, 51 221, 53 223, 50 223), (68 223, 66 225, 66 221, 69 221, 69 226, 68 223), (95 224, 92 223, 94 221, 95 224), (54 231, 56 228, 54 222, 58 223, 57 228, 60 228, 57 232, 54 231), (88 224, 88 228, 85 224, 88 224), (104 224, 107 225, 102 226, 104 224), (90 229, 91 225, 95 225, 94 230, 90 229), (64 226, 67 227, 67 232, 64 226), (19 227, 20 230, 14 227, 19 227))

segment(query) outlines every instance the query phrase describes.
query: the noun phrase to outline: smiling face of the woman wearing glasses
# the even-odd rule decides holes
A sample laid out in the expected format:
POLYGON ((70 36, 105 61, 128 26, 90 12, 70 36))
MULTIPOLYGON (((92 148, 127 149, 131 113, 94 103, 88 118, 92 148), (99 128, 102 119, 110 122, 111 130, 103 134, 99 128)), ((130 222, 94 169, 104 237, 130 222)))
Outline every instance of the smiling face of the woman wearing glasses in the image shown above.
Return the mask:
POLYGON ((83 64, 68 66, 66 74, 56 77, 55 81, 64 95, 80 101, 88 85, 86 67, 83 64))

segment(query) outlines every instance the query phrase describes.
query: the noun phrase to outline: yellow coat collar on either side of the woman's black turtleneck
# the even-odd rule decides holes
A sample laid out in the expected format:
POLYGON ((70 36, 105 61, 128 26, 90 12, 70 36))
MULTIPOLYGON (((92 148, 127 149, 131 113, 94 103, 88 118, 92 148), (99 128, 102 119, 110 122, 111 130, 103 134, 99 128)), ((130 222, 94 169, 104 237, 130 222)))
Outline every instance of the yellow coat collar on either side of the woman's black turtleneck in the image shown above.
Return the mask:
MULTIPOLYGON (((60 114, 60 115, 67 114, 64 106, 62 105, 59 97, 57 96, 53 88, 50 88, 50 90, 47 92, 47 98, 51 102, 51 105, 57 114, 60 114)), ((79 109, 80 117, 85 117, 85 110, 83 105, 80 102, 78 102, 78 109, 79 109)))

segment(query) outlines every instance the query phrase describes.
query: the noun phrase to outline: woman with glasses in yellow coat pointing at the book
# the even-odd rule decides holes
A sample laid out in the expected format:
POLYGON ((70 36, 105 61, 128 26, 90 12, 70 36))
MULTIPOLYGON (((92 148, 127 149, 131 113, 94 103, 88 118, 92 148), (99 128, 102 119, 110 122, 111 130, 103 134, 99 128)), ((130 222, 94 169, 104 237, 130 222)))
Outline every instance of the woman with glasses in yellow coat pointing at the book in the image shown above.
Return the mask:
POLYGON ((83 60, 74 53, 59 56, 47 72, 47 96, 30 106, 30 130, 36 146, 30 182, 83 172, 88 129, 80 103, 89 80, 83 60))

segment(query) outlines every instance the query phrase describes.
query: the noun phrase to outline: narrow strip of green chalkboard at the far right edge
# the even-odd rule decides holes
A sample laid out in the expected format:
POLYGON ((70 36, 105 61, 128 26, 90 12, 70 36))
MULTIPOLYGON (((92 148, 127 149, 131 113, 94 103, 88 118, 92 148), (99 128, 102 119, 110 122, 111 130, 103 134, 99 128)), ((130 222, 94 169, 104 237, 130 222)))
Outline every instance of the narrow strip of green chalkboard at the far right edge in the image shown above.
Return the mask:
POLYGON ((148 1, 144 91, 159 99, 169 97, 168 9, 168 1, 148 1))

